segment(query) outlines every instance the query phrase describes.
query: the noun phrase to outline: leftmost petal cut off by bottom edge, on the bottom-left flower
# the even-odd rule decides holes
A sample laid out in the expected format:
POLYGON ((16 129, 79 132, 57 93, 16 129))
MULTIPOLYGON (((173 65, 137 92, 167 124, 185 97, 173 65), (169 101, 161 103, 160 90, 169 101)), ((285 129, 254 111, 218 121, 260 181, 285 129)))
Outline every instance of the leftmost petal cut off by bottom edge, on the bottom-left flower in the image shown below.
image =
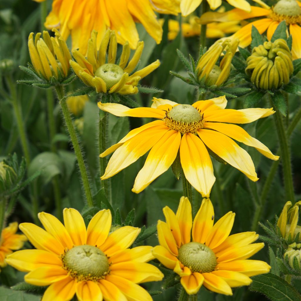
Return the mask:
POLYGON ((76 290, 76 281, 70 277, 51 284, 45 291, 42 301, 69 301, 76 290))

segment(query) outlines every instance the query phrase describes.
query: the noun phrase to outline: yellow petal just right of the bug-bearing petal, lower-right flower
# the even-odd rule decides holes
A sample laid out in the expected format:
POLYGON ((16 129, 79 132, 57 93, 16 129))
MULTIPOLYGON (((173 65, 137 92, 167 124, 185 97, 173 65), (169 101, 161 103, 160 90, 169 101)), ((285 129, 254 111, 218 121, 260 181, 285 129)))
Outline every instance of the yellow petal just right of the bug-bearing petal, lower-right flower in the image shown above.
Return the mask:
POLYGON ((206 238, 206 246, 214 249, 225 241, 232 230, 234 216, 235 213, 230 211, 216 222, 206 238))

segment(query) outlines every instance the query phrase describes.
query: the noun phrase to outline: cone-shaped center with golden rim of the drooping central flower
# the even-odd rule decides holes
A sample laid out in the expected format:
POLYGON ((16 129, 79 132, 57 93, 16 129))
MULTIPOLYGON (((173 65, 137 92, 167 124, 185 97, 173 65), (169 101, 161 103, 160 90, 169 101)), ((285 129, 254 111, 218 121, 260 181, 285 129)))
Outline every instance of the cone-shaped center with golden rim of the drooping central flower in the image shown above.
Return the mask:
POLYGON ((203 128, 203 114, 190 104, 178 104, 166 113, 166 126, 184 133, 196 133, 203 128))

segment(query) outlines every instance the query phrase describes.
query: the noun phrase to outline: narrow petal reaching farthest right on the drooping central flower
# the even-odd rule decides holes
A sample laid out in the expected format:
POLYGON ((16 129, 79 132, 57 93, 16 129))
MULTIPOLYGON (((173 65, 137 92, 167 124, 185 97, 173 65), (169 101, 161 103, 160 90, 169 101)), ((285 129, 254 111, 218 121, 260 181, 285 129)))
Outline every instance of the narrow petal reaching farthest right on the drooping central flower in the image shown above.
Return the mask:
POLYGON ((239 142, 242 142, 248 146, 255 147, 264 156, 272 160, 278 160, 279 156, 275 156, 272 152, 259 140, 250 136, 243 128, 235 124, 227 123, 212 123, 206 122, 204 124, 205 128, 216 130, 222 134, 227 135, 228 137, 235 139, 239 142))

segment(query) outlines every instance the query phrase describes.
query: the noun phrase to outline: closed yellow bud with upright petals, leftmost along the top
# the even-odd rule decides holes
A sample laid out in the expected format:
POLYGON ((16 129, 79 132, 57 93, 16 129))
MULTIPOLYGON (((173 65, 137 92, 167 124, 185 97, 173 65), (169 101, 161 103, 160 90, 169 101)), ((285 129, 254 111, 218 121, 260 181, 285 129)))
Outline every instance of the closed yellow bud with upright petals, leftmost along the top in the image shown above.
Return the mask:
POLYGON ((69 49, 56 29, 55 38, 50 37, 47 31, 37 33, 33 39, 33 33, 28 37, 28 49, 31 62, 36 72, 46 80, 52 77, 56 79, 65 78, 70 69, 69 60, 71 54, 69 49))

